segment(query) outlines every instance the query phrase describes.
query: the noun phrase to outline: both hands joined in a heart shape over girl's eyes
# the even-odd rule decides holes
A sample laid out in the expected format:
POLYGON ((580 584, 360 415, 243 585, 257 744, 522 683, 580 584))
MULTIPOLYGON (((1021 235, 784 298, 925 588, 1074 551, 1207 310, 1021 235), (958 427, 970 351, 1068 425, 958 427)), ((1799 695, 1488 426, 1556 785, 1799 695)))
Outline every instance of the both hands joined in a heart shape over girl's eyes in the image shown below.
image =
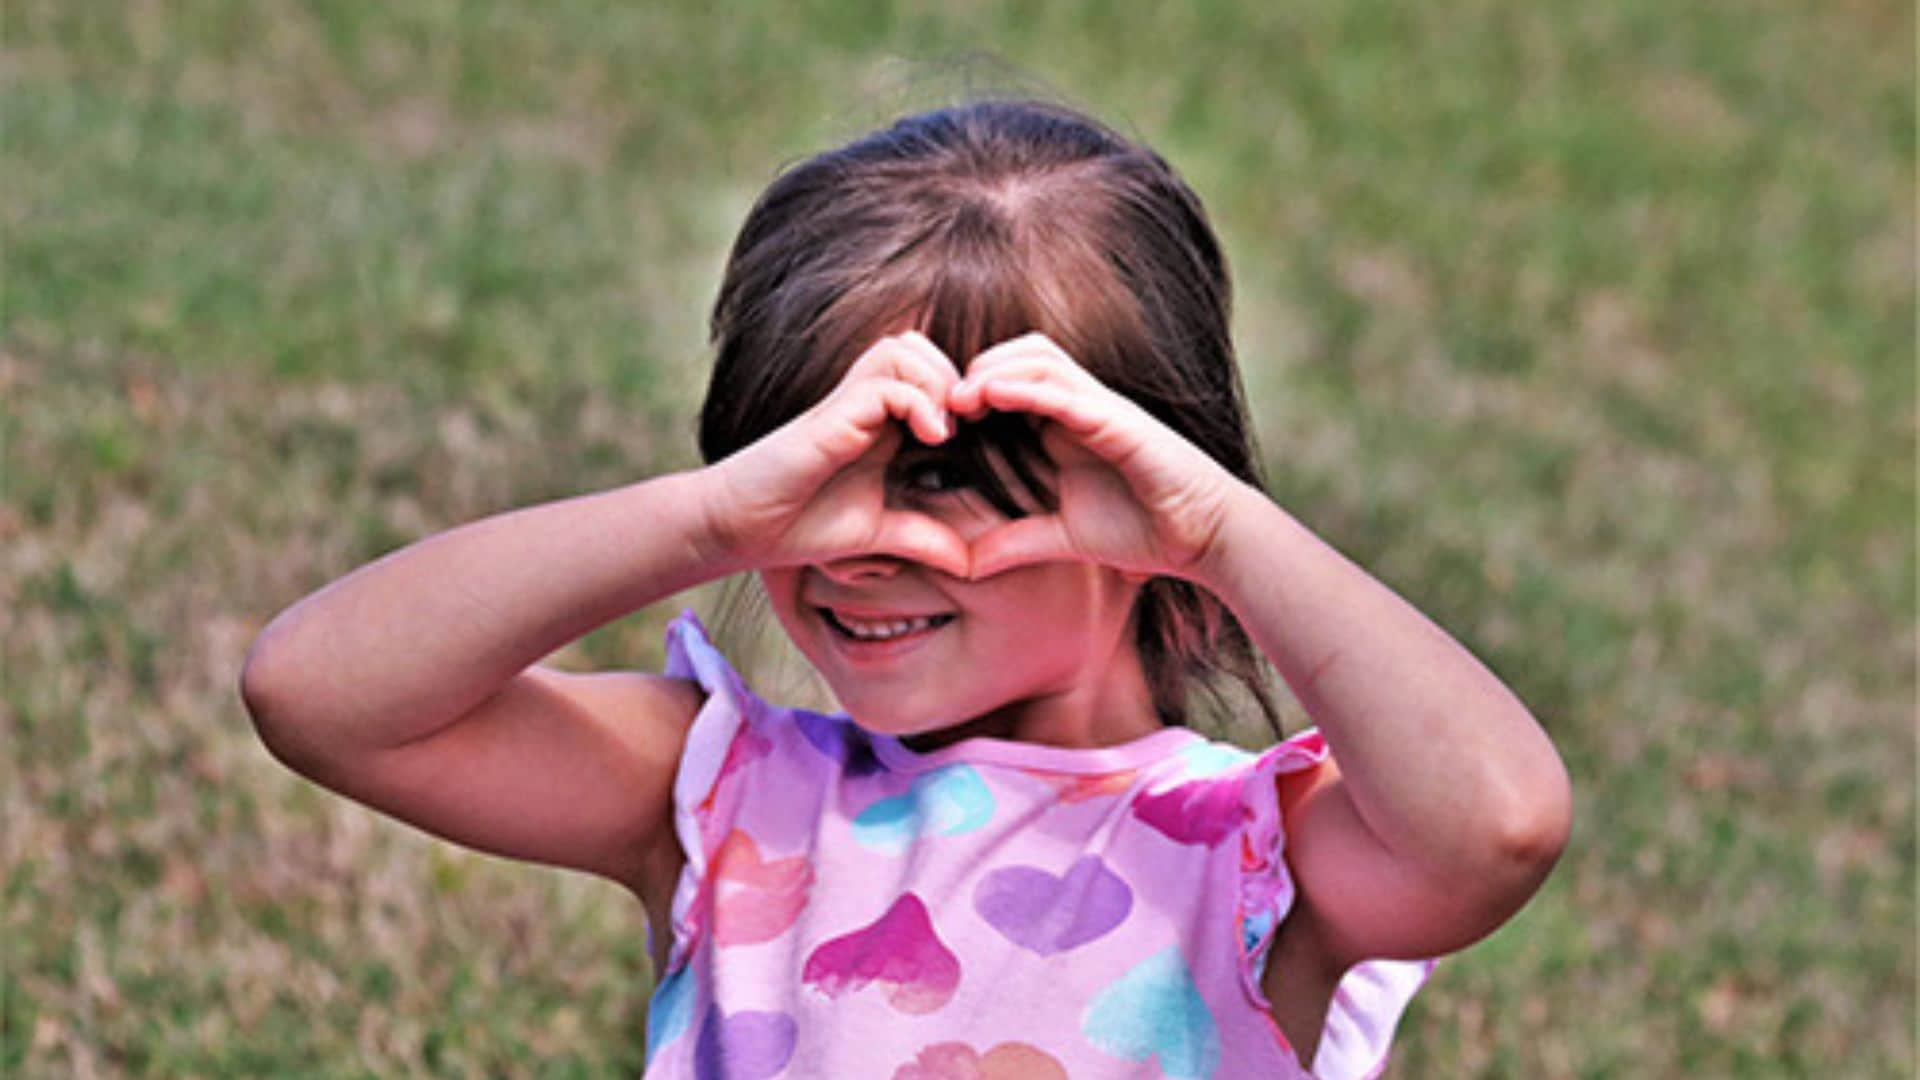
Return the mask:
POLYGON ((883 553, 968 580, 1054 559, 1190 578, 1244 488, 1039 332, 977 354, 966 375, 916 331, 885 336, 833 392, 708 473, 708 532, 733 565, 883 553), (941 446, 989 411, 1039 421, 1058 509, 968 542, 937 509, 889 498, 887 473, 908 429, 941 446))

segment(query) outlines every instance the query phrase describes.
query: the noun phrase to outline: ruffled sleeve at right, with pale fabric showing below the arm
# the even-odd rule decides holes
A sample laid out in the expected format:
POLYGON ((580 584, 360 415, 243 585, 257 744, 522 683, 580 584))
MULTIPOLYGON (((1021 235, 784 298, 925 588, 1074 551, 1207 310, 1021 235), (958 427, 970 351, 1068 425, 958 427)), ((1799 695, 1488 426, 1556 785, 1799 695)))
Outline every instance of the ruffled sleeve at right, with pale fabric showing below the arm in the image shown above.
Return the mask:
MULTIPOLYGON (((1265 1001, 1260 990, 1260 970, 1273 934, 1294 903, 1294 882, 1286 869, 1286 830, 1275 778, 1300 773, 1327 757, 1327 740, 1317 728, 1308 728, 1261 751, 1246 774, 1248 828, 1240 851, 1240 928, 1248 965, 1242 974, 1256 1001, 1265 1001)), ((1334 988, 1327 1007, 1327 1026, 1313 1053, 1311 1072, 1319 1080, 1359 1080, 1379 1076, 1394 1042, 1394 1028, 1413 994, 1432 974, 1434 959, 1421 961, 1361 961, 1334 988)))

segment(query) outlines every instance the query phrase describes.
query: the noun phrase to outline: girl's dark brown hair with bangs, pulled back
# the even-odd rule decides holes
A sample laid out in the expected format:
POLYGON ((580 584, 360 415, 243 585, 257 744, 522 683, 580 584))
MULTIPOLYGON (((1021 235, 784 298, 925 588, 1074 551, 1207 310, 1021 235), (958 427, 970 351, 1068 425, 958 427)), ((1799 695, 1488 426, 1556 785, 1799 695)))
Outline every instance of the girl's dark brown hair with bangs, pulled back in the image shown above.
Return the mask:
MULTIPOLYGON (((787 167, 747 213, 712 307, 701 455, 720 461, 785 425, 914 319, 962 371, 987 346, 1041 331, 1263 490, 1229 315, 1225 256, 1160 154, 1031 98, 908 115, 787 167)), ((989 450, 1056 507, 1023 417, 989 413, 950 448, 1008 517, 1023 509, 989 450)), ((1223 705, 1210 676, 1227 675, 1281 732, 1263 657, 1219 598, 1160 577, 1133 615, 1162 721, 1190 721, 1194 686, 1223 705)))

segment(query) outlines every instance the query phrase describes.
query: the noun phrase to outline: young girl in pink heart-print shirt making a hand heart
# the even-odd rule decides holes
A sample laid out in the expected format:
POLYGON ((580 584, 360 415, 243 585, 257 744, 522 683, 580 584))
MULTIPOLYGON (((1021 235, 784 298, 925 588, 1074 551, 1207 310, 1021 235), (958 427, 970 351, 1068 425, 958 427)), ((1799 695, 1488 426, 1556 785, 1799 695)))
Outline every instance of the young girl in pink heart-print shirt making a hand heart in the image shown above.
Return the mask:
POLYGON ((632 890, 647 1076, 1379 1072, 1432 957, 1540 886, 1569 784, 1263 494, 1227 325, 1154 152, 1050 104, 900 119, 749 213, 705 467, 319 590, 248 709, 340 794, 632 890), (536 663, 743 571, 843 711, 764 701, 693 611, 662 675, 536 663), (1185 726, 1221 676, 1271 721, 1261 653, 1315 728, 1185 726))

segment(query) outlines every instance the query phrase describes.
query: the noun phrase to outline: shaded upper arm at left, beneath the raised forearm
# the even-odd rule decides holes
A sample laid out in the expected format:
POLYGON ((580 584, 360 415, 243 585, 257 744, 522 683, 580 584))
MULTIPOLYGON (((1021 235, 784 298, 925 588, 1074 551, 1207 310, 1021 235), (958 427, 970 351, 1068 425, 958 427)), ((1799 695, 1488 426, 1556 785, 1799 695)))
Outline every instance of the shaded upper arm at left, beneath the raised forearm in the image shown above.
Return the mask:
POLYGON ((685 678, 534 665, 415 742, 288 765, 455 844, 639 896, 672 840, 674 773, 703 698, 685 678))

